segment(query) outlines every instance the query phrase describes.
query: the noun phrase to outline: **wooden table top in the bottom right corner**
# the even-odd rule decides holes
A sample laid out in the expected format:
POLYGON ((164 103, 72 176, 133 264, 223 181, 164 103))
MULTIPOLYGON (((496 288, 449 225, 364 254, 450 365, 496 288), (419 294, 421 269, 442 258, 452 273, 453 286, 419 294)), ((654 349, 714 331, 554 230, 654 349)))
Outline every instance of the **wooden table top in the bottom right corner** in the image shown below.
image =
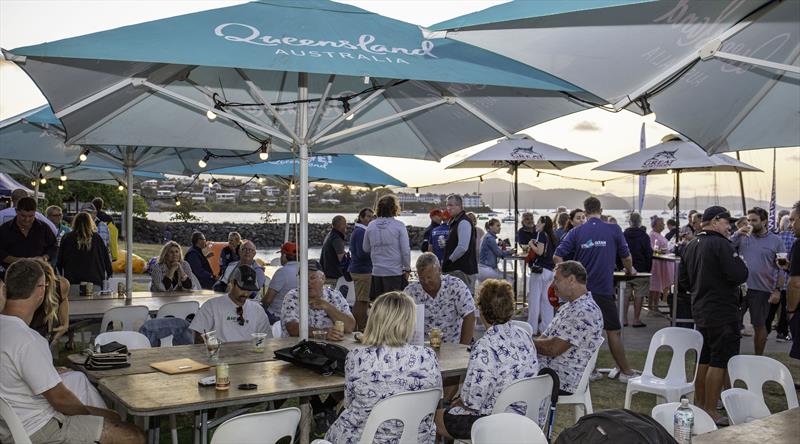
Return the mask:
POLYGON ((692 437, 696 444, 795 444, 800 437, 800 407, 746 424, 732 425, 692 437))

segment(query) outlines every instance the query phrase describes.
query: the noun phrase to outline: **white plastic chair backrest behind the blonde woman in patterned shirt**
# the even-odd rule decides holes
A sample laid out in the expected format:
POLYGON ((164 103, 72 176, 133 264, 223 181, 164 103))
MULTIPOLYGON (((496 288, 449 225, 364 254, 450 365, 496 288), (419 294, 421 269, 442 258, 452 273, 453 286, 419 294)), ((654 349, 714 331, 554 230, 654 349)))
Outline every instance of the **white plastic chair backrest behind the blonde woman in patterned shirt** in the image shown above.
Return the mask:
POLYGON ((364 431, 358 442, 371 444, 381 424, 390 419, 398 419, 403 422, 403 434, 398 444, 416 444, 420 423, 436 411, 441 398, 441 389, 428 389, 398 393, 378 401, 364 424, 364 431))

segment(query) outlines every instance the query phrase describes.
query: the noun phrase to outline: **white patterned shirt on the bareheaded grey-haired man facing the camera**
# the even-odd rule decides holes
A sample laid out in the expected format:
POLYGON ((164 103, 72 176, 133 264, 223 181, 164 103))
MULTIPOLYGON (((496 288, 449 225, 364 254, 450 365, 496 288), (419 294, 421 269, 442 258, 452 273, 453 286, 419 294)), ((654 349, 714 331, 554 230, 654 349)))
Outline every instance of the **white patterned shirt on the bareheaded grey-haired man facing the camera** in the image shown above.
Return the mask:
POLYGON ((442 330, 442 342, 459 343, 461 341, 461 324, 464 316, 475 312, 475 301, 472 299, 464 281, 450 275, 442 275, 439 293, 432 298, 422 288, 422 284, 414 282, 403 290, 417 304, 425 305, 425 335, 432 328, 442 330))

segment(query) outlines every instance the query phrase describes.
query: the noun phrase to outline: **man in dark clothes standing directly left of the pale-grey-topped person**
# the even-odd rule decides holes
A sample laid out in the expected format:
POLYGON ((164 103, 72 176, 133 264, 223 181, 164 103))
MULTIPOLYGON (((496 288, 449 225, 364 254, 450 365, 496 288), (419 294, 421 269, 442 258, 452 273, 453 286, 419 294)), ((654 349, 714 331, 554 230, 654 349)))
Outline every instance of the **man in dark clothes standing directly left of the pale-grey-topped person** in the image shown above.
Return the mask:
POLYGON ((353 317, 356 318, 356 330, 363 331, 367 325, 367 311, 369 311, 369 288, 372 283, 372 259, 364 251, 364 234, 367 226, 375 218, 375 213, 369 208, 362 208, 358 212, 358 220, 353 226, 350 235, 350 265, 347 271, 353 278, 356 291, 356 303, 353 306, 353 317))

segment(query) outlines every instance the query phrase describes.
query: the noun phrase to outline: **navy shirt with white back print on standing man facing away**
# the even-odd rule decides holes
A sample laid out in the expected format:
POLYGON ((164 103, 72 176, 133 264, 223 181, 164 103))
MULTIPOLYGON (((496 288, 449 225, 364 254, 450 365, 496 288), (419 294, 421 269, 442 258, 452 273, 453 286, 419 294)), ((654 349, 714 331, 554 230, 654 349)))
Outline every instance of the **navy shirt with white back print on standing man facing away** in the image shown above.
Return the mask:
POLYGON ((564 236, 555 255, 561 258, 574 255, 586 267, 589 291, 595 296, 613 296, 617 257, 628 257, 630 251, 619 225, 592 217, 564 236))

